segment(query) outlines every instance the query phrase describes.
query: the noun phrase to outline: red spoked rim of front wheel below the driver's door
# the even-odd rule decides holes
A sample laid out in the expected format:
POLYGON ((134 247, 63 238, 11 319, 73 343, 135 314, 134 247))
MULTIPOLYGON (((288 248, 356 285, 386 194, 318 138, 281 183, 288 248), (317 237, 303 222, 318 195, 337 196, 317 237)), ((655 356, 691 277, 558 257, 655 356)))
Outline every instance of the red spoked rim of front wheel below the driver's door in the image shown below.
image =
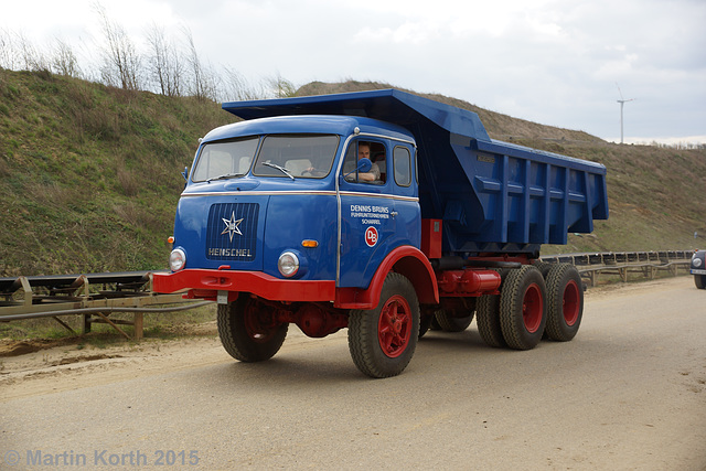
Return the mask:
POLYGON ((411 310, 407 300, 395 295, 385 302, 377 322, 377 339, 383 353, 395 358, 404 353, 411 335, 411 310))

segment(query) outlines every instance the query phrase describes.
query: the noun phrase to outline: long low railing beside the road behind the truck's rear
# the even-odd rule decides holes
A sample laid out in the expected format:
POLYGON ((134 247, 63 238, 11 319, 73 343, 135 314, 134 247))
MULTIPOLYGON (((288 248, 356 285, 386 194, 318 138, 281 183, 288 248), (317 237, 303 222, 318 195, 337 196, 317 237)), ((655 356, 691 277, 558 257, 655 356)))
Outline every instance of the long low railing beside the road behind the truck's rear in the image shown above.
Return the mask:
POLYGON ((573 264, 590 286, 596 286, 600 275, 617 275, 627 282, 630 274, 654 279, 660 271, 677 276, 680 268, 689 269, 694 250, 662 251, 606 251, 563 254, 542 257, 542 261, 573 264))

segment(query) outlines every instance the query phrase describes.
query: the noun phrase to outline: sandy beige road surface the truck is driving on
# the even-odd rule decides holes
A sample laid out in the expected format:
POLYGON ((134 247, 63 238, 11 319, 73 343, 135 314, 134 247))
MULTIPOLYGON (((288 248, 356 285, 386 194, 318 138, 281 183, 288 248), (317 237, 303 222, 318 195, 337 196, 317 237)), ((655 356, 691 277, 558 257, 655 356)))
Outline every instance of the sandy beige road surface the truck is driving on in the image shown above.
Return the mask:
POLYGON ((528 352, 485 346, 474 323, 431 332, 388 379, 357 372, 345 332, 293 334, 257 365, 211 339, 72 372, 2 386, 0 469, 706 469, 706 291, 689 277, 589 291, 578 336, 528 352))

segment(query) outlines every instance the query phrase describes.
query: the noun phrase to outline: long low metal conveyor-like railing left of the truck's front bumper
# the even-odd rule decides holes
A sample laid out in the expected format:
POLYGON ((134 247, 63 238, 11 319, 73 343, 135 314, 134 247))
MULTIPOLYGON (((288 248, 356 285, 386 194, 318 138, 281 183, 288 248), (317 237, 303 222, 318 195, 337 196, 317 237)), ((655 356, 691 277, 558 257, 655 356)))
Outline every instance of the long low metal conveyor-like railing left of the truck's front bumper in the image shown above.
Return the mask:
POLYGON ((93 323, 107 323, 128 340, 130 336, 119 324, 133 325, 133 339, 141 340, 145 313, 182 311, 210 303, 194 303, 181 293, 153 292, 151 271, 0 278, 0 321, 49 317, 72 333, 76 332, 60 315, 83 315, 84 332, 90 332, 93 323), (189 304, 158 307, 185 302, 189 304), (132 313, 133 320, 110 319, 114 312, 132 313))

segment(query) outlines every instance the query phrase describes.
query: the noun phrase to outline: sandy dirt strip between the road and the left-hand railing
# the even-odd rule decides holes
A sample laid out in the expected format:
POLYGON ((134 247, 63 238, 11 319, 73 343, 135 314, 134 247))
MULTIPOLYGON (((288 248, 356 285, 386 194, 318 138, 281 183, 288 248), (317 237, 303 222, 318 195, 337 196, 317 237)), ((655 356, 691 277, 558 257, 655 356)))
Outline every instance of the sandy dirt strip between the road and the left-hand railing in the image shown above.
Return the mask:
MULTIPOLYGON (((221 345, 215 321, 179 330, 178 339, 101 347, 79 338, 0 341, 0 402, 234 361, 221 345)), ((290 327, 288 347, 307 342, 315 340, 290 327)))

